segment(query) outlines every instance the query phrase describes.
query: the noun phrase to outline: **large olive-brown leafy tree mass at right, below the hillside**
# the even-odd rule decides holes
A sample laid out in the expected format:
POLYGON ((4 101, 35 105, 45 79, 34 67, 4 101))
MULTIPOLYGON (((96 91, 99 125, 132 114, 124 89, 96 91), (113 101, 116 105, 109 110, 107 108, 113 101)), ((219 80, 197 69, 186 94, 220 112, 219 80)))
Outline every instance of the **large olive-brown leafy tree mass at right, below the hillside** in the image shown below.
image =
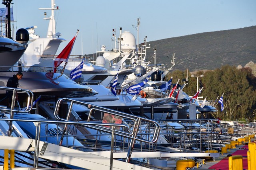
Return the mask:
MULTIPOLYGON (((250 110, 255 107, 256 91, 248 80, 250 76, 250 70, 238 70, 229 65, 214 71, 207 71, 202 79, 204 85, 202 94, 217 98, 224 93, 224 111, 220 113, 222 117, 232 120, 243 117, 252 119, 254 115, 250 110)), ((217 106, 220 108, 219 105, 217 106)))

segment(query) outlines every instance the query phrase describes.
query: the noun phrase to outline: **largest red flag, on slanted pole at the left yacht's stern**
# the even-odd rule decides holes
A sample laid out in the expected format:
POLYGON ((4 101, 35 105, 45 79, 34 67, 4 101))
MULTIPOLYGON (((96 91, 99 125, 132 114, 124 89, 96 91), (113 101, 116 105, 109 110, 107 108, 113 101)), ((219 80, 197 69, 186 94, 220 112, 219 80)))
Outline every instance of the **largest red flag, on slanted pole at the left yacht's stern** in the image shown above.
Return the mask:
POLYGON ((77 30, 76 35, 73 39, 68 43, 68 45, 60 52, 58 57, 54 60, 54 72, 56 72, 56 67, 58 67, 63 61, 68 62, 68 58, 72 51, 73 45, 76 41, 76 36, 78 35, 79 30, 77 30))

